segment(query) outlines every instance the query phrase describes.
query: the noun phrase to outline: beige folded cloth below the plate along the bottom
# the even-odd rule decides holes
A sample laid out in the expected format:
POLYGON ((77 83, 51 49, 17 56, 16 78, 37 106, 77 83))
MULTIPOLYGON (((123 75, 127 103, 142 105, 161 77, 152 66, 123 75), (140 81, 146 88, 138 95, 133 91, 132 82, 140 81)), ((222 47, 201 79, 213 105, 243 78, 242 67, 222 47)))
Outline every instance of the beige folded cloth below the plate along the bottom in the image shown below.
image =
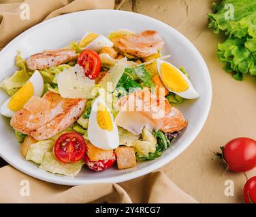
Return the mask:
POLYGON ((0 203, 197 203, 162 172, 118 184, 65 186, 6 165, 0 177, 0 203))

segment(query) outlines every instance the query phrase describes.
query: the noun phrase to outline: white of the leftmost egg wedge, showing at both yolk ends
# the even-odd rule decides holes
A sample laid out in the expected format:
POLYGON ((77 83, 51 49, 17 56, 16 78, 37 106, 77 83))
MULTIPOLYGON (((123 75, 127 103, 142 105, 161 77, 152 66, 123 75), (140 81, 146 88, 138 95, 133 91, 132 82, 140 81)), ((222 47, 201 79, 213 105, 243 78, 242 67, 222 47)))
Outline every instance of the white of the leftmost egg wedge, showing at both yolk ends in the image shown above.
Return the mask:
MULTIPOLYGON (((39 71, 35 71, 33 75, 30 77, 30 79, 27 82, 31 82, 33 85, 33 96, 42 96, 42 93, 44 91, 44 80, 42 75, 39 73, 39 71)), ((10 102, 11 98, 8 98, 3 102, 3 105, 1 106, 0 113, 1 115, 5 117, 12 117, 15 114, 15 111, 12 111, 8 108, 8 104, 10 102)))

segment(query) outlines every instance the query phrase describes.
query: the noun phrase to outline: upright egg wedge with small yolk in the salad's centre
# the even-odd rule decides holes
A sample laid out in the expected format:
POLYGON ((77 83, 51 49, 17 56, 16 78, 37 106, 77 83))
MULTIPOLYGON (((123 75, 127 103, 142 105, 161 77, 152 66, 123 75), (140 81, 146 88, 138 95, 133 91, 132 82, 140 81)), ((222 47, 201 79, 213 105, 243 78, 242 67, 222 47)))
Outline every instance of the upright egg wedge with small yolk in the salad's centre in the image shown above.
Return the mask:
POLYGON ((97 97, 91 109, 88 125, 89 141, 99 149, 116 149, 119 136, 116 123, 106 102, 97 97))

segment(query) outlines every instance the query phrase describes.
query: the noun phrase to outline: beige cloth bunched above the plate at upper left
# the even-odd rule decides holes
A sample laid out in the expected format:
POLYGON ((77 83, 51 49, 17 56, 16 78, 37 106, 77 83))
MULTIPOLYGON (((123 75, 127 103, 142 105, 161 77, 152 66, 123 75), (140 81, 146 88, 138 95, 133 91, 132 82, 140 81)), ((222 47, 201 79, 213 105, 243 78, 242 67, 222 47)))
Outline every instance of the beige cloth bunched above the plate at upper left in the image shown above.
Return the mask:
POLYGON ((113 8, 114 0, 25 0, 0 3, 0 47, 43 20, 86 9, 113 8))

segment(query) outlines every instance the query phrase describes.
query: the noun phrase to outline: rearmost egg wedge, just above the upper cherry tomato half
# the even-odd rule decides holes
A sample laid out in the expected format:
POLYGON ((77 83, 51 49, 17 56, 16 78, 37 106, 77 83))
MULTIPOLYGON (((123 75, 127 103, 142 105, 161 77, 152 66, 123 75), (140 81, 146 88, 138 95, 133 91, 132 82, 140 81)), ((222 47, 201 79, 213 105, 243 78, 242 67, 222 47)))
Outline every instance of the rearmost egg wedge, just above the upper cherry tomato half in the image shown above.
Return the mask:
POLYGON ((107 37, 97 33, 87 32, 79 42, 82 50, 91 49, 99 53, 103 47, 113 47, 114 43, 107 37))

